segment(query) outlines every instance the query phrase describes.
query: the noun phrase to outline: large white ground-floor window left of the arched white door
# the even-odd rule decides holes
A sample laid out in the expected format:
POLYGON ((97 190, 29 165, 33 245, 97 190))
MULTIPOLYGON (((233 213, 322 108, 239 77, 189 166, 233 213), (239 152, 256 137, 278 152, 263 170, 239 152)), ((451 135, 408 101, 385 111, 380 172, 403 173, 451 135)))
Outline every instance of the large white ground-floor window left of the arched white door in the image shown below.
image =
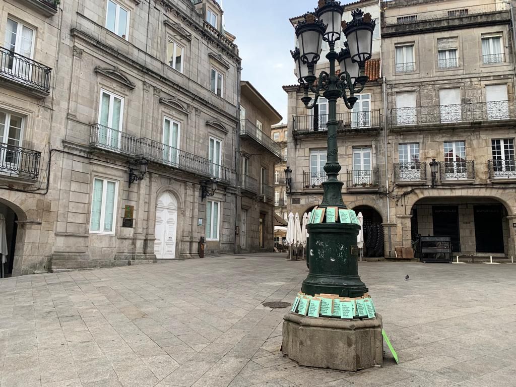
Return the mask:
POLYGON ((117 185, 112 180, 93 179, 90 232, 115 234, 115 208, 117 208, 117 185))

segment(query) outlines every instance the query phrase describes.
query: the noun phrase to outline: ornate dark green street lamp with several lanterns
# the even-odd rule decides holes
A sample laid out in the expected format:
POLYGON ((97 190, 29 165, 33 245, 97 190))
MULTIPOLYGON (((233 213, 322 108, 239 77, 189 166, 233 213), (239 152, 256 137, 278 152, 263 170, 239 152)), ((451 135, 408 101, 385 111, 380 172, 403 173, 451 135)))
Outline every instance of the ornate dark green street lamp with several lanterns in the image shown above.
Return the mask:
MULTIPOLYGON (((328 100, 328 153, 324 167, 328 180, 322 183, 324 195, 319 208, 336 207, 337 210, 347 207, 342 200, 343 183, 337 179, 341 166, 337 157, 336 104, 342 98, 347 108, 352 109, 357 101, 354 94, 364 89, 368 80, 365 62, 371 57, 375 28, 371 15, 359 9, 351 12, 353 19, 349 23, 341 22, 343 11, 340 2, 320 0, 315 13, 307 13, 305 20, 297 24, 299 50, 291 52, 296 61, 299 83, 304 89, 301 98, 304 105, 313 109, 321 95, 328 100), (341 39, 342 31, 348 44, 345 44, 346 49, 337 53, 335 42, 341 39), (323 40, 328 42, 330 48, 326 55, 330 70, 315 74, 323 40), (336 61, 340 72, 335 71, 336 61), (309 93, 313 93, 314 98, 309 93)), ((357 224, 326 223, 325 218, 321 223, 308 225, 310 273, 302 285, 305 294, 360 297, 367 292, 358 275, 359 230, 357 224)))

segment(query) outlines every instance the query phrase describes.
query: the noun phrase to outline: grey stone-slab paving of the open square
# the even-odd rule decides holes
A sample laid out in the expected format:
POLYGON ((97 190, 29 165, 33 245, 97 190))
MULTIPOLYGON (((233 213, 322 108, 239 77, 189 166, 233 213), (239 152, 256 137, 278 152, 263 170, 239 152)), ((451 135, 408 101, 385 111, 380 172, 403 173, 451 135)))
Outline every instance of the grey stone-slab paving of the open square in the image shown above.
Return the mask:
POLYGON ((292 302, 307 267, 255 254, 0 280, 0 387, 516 385, 516 266, 359 268, 399 365, 386 353, 346 373, 284 357, 286 309, 262 303, 292 302))

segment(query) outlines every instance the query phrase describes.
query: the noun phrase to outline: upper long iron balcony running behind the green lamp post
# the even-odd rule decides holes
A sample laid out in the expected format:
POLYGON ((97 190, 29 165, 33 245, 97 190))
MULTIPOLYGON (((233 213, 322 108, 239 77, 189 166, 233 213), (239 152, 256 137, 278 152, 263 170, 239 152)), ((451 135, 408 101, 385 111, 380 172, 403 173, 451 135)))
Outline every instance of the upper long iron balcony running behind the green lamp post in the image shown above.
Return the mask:
MULTIPOLYGON (((348 111, 337 113, 337 132, 377 132, 381 125, 380 110, 348 111)), ((328 115, 320 114, 318 119, 314 116, 294 116, 293 135, 295 137, 305 135, 326 134, 328 131, 328 115)))

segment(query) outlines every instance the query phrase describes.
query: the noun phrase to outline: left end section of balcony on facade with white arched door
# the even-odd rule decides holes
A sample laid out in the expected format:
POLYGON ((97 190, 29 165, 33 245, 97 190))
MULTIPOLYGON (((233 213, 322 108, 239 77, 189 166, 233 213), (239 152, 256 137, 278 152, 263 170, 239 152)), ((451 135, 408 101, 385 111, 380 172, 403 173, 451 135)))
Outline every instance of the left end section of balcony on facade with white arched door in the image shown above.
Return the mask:
POLYGON ((91 125, 90 146, 100 150, 134 156, 137 143, 136 136, 97 123, 91 125))

